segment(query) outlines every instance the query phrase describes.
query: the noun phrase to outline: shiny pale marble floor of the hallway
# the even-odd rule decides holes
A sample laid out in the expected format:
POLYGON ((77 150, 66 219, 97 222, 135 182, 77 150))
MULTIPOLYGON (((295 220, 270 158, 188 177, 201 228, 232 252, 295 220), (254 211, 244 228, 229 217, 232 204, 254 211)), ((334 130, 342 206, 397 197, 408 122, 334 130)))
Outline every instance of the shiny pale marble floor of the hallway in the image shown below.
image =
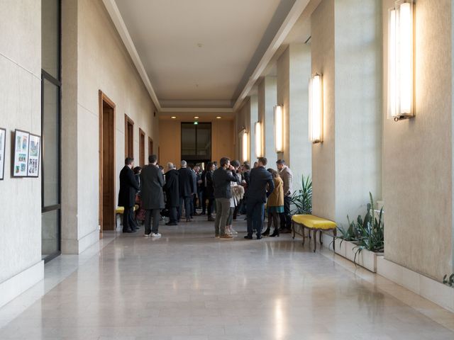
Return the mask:
POLYGON ((232 240, 196 217, 50 261, 0 339, 454 339, 454 314, 289 234, 245 240, 239 218, 232 240))

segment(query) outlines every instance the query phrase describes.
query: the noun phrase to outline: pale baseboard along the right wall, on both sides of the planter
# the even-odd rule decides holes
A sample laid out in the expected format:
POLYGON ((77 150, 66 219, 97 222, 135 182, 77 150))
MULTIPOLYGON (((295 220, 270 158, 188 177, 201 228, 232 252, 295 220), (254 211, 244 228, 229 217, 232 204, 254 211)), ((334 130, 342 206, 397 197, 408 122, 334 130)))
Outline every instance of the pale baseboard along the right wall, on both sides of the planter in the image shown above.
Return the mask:
MULTIPOLYGON (((332 240, 333 237, 331 235, 323 233, 324 247, 328 248, 332 240)), ((332 244, 329 246, 329 250, 333 251, 332 244)), ((411 271, 404 266, 385 259, 383 256, 377 256, 377 274, 397 283, 397 285, 402 285, 402 287, 421 295, 450 312, 454 312, 454 288, 443 285, 443 283, 433 280, 433 278, 416 273, 416 271, 411 271)))

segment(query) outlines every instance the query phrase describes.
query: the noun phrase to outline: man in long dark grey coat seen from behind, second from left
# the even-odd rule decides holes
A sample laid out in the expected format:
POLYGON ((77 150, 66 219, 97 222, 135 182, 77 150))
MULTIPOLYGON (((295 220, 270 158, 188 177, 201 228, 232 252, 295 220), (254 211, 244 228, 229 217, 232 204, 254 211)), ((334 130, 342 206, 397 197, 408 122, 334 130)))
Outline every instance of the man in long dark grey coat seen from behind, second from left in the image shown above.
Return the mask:
POLYGON ((158 232, 161 209, 164 209, 164 175, 156 165, 157 157, 155 154, 148 157, 150 164, 143 167, 140 173, 140 181, 142 182, 142 190, 140 196, 142 198, 143 208, 145 212, 145 237, 160 237, 158 232), (150 228, 151 216, 153 215, 153 228, 150 228))

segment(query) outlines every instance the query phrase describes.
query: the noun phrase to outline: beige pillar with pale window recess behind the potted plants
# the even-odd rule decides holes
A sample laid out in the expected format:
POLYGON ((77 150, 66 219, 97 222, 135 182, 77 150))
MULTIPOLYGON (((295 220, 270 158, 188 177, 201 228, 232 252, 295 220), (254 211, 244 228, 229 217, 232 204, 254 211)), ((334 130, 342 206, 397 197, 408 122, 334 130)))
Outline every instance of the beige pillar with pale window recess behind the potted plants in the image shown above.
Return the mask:
POLYGON ((324 98, 323 143, 312 147, 313 211, 346 227, 347 215, 364 213, 369 192, 382 197, 380 4, 324 0, 311 25, 312 73, 323 74, 324 98))

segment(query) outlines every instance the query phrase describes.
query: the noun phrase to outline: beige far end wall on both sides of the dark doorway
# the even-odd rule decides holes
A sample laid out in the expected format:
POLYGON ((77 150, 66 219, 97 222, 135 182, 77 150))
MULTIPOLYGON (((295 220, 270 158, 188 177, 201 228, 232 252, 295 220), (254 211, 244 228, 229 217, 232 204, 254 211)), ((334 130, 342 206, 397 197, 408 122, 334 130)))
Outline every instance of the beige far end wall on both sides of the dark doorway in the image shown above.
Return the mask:
MULTIPOLYGON (((216 115, 215 113, 213 115, 216 115)), ((199 120, 207 121, 207 120, 199 120)), ((181 161, 181 123, 182 120, 161 119, 160 130, 160 158, 162 166, 172 162, 179 166, 181 161)), ((211 159, 218 161, 221 157, 235 156, 235 145, 233 141, 233 120, 211 120, 211 159)))

